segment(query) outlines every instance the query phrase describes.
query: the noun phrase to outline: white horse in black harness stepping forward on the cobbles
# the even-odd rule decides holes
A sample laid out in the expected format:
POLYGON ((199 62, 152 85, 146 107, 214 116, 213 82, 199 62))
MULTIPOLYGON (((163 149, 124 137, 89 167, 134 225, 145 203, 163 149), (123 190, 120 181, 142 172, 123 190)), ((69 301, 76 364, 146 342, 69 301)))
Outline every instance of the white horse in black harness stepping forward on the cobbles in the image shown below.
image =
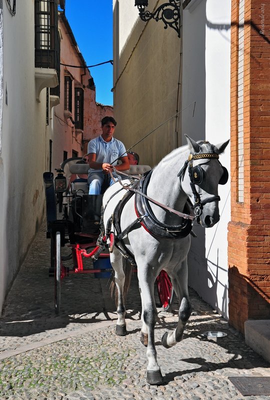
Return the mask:
POLYGON ((219 220, 218 183, 226 183, 228 177, 218 155, 229 140, 213 145, 207 141, 195 142, 187 135, 186 139, 188 145, 166 155, 131 191, 122 186, 130 183, 125 179, 122 184, 110 186, 103 196, 103 222, 107 241, 110 240, 110 261, 118 291, 116 334, 126 333, 123 260, 128 257, 137 266, 142 306, 141 341, 147 345, 146 378, 150 384, 163 382, 154 344, 157 320, 154 281, 164 269, 179 301, 177 326, 162 337, 163 346, 168 348, 182 339, 191 312, 186 258, 193 220, 197 219, 202 227, 211 227, 219 220), (188 200, 193 205, 194 216, 185 210, 188 200))

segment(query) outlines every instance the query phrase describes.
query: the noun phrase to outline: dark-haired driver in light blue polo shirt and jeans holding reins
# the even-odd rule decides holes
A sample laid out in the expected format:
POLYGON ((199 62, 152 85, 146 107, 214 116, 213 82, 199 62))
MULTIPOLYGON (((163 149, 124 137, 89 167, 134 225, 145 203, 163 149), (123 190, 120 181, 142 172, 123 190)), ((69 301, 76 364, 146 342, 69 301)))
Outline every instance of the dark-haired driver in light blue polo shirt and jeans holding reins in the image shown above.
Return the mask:
POLYGON ((115 125, 116 121, 112 116, 105 116, 101 120, 101 135, 88 143, 89 194, 100 194, 101 185, 105 178, 108 178, 109 185, 113 183, 109 174, 109 171, 113 171, 113 166, 117 171, 124 171, 129 168, 123 143, 113 137, 115 125), (121 160, 121 164, 117 164, 118 159, 121 160))

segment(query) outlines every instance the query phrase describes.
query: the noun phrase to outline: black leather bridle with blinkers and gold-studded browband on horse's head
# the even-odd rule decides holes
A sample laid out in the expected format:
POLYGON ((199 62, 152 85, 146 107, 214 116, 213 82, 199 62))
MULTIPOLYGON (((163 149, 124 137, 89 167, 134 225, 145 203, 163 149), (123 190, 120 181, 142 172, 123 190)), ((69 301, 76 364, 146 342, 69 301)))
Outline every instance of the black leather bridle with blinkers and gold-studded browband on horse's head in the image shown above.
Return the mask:
MULTIPOLYGON (((188 167, 190 186, 191 186, 191 190, 192 190, 192 193, 194 196, 194 214, 195 214, 195 218, 196 218, 197 222, 199 222, 199 216, 202 213, 203 205, 205 205, 206 203, 210 203, 212 201, 220 200, 220 197, 218 195, 207 197, 204 200, 200 199, 200 195, 197 192, 195 185, 199 185, 202 182, 203 169, 201 168, 200 165, 193 166, 193 160, 200 159, 200 158, 217 158, 218 159, 219 155, 217 153, 189 154, 188 159, 185 161, 183 167, 180 169, 179 173, 177 174, 177 176, 180 177, 180 180, 183 179, 185 170, 188 167)), ((220 165, 221 165, 221 163, 220 163, 220 165)), ((219 184, 225 184, 228 180, 228 171, 224 166, 222 166, 222 168, 223 168, 223 174, 222 174, 221 178, 219 179, 219 182, 218 182, 219 184)))

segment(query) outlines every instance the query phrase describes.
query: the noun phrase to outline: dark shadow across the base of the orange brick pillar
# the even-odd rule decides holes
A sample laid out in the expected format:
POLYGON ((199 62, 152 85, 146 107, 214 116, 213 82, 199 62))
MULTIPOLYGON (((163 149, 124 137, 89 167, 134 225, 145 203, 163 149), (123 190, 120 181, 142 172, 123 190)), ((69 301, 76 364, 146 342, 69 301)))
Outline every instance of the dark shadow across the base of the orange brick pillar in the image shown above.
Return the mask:
POLYGON ((254 278, 263 280, 250 279, 239 273, 235 265, 228 269, 229 323, 242 333, 247 319, 270 319, 270 297, 266 293, 269 276, 255 275, 254 278), (262 286, 265 283, 267 286, 262 286))

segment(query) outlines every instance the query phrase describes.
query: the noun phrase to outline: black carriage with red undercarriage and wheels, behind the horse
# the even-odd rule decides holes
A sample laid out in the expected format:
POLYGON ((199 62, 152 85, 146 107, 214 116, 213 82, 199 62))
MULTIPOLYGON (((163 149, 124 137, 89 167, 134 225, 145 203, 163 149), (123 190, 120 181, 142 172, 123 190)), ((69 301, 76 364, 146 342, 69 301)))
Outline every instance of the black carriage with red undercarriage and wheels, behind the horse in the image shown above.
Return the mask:
MULTIPOLYGON (((77 163, 80 157, 68 158, 62 162, 61 168, 43 173, 46 197, 47 238, 50 239, 49 275, 54 277, 54 307, 60 309, 61 280, 71 274, 93 273, 96 278, 108 278, 112 267, 109 261, 108 245, 102 242, 100 218, 103 192, 88 195, 88 184, 82 179, 71 182, 73 175, 87 174, 88 165, 77 163), (77 181, 79 180, 79 181, 77 181), (58 205, 58 209, 57 209, 58 205), (71 249, 69 255, 62 255, 63 247, 71 249), (85 260, 87 268, 83 267, 85 260), (65 266, 64 261, 72 259, 72 268, 65 266)), ((134 182, 151 168, 148 165, 130 165, 124 171, 123 178, 134 182)), ((136 270, 134 268, 134 270, 136 270)), ((156 279, 156 290, 160 307, 169 310, 174 299, 171 281, 165 271, 160 271, 156 279)))

